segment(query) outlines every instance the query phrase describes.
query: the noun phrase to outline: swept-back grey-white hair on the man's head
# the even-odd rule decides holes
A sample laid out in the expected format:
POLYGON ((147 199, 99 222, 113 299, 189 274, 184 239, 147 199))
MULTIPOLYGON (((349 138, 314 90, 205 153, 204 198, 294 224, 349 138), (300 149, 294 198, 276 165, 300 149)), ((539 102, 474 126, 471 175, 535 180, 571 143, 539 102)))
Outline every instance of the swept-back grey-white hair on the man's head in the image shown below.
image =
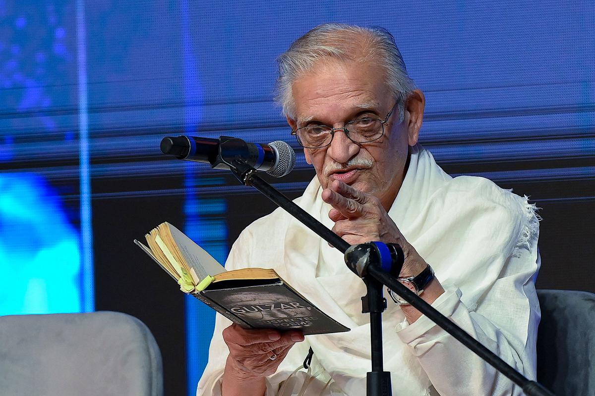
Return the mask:
POLYGON ((295 119, 292 85, 311 71, 320 59, 338 58, 343 61, 373 62, 383 68, 386 83, 399 102, 399 118, 403 104, 415 90, 415 83, 407 74, 405 62, 394 37, 382 27, 361 27, 340 23, 319 25, 297 39, 278 56, 277 95, 275 100, 283 113, 295 119))

